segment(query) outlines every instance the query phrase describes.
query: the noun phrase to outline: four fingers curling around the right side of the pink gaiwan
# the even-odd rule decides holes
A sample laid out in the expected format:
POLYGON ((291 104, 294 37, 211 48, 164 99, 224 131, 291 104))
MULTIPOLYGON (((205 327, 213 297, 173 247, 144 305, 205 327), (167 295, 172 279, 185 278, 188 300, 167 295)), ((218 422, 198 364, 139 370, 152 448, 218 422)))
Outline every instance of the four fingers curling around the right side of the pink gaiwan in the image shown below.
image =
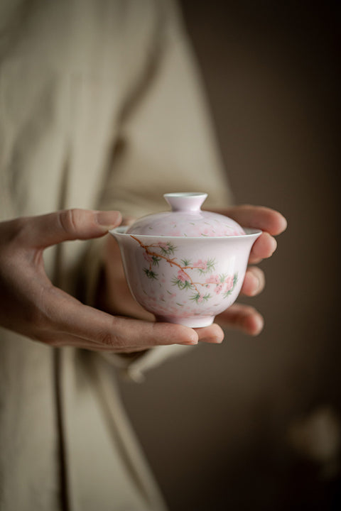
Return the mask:
MULTIPOLYGON (((229 216, 244 227, 263 231, 252 247, 249 257, 251 266, 247 269, 241 290, 241 295, 259 295, 264 289, 265 278, 264 272, 254 265, 274 253, 277 247, 274 236, 285 231, 286 219, 274 209, 259 206, 236 206, 217 212, 229 216)), ((222 312, 217 317, 217 322, 253 336, 258 335, 264 326, 263 317, 254 307, 239 303, 234 303, 222 312)))

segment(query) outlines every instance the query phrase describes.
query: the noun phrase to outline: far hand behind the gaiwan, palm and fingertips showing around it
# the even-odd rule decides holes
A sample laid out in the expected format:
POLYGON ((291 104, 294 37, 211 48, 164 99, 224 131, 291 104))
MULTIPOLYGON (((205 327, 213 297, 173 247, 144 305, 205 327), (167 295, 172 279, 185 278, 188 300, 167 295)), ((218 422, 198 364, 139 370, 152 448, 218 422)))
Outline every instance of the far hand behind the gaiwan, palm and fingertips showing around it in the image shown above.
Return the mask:
MULTIPOLYGON (((263 231, 252 247, 249 257, 251 266, 247 269, 241 290, 241 295, 259 295, 264 289, 265 278, 264 272, 256 264, 274 253, 277 246, 274 236, 286 229, 286 219, 274 209, 258 206, 235 206, 217 212, 229 216, 244 227, 263 231)), ((146 312, 131 296, 124 276, 119 246, 112 236, 107 237, 104 248, 104 278, 99 297, 102 297, 99 307, 107 312, 155 321, 153 314, 146 312)), ((254 307, 237 303, 217 316, 216 321, 211 326, 195 329, 199 334, 199 341, 222 342, 224 332, 218 324, 239 329, 251 336, 259 334, 264 325, 263 317, 254 307)))

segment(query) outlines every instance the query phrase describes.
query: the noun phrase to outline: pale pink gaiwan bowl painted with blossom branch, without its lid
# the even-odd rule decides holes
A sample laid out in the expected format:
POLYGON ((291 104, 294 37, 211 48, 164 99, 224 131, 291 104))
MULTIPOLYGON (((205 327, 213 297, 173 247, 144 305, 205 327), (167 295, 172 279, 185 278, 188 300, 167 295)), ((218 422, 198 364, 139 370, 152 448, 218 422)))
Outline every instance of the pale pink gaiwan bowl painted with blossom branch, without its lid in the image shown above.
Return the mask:
POLYGON ((261 234, 148 236, 109 231, 119 243, 131 294, 160 322, 208 326, 242 288, 251 247, 261 234))

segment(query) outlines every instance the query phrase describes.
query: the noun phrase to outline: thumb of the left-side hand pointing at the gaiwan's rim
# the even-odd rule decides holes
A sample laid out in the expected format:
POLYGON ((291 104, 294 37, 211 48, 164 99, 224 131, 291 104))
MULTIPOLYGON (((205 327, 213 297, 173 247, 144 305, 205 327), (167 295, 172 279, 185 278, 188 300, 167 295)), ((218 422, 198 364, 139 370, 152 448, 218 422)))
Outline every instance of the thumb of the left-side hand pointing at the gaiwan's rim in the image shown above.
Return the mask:
POLYGON ((26 219, 26 243, 34 248, 46 248, 61 241, 86 240, 104 236, 121 223, 119 211, 65 209, 26 219))

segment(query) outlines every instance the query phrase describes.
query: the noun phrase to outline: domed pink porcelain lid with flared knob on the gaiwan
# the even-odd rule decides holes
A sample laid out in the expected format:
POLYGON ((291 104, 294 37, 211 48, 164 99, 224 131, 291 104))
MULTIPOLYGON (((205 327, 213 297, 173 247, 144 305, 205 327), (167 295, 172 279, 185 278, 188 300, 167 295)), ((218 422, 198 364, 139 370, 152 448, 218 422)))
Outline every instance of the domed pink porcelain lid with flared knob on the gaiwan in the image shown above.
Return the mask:
POLYGON ((126 231, 144 236, 243 236, 236 221, 218 213, 202 211, 206 193, 179 192, 164 194, 171 211, 142 216, 126 231))

